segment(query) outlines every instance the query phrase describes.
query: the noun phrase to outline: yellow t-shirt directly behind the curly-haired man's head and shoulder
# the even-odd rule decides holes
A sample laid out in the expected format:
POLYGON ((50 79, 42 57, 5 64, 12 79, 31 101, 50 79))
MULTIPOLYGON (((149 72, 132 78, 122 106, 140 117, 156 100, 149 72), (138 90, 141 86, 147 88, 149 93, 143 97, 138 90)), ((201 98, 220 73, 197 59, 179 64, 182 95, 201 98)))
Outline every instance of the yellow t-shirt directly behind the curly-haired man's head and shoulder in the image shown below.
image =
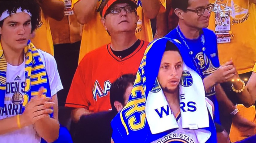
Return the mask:
MULTIPOLYGON (((60 0, 63 1, 64 0, 60 0)), ((36 36, 31 40, 32 43, 37 47, 37 49, 41 49, 51 55, 54 55, 53 50, 53 38, 51 34, 49 19, 42 12, 41 22, 39 24, 39 28, 36 29, 36 36)))

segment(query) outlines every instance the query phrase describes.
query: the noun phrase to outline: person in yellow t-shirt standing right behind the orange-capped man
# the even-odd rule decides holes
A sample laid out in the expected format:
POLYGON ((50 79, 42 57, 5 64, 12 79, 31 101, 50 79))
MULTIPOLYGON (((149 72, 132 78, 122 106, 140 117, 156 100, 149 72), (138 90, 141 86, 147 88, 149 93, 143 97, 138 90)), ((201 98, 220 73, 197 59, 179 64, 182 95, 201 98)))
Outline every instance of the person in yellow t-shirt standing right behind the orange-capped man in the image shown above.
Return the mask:
MULTIPOLYGON (((85 54, 110 42, 111 38, 100 23, 99 7, 105 0, 72 0, 72 9, 79 23, 84 24, 79 62, 85 54), (100 40, 99 40, 100 39, 100 40)), ((164 12, 166 0, 134 0, 140 17, 137 23, 138 39, 151 42, 153 32, 150 19, 164 12)))

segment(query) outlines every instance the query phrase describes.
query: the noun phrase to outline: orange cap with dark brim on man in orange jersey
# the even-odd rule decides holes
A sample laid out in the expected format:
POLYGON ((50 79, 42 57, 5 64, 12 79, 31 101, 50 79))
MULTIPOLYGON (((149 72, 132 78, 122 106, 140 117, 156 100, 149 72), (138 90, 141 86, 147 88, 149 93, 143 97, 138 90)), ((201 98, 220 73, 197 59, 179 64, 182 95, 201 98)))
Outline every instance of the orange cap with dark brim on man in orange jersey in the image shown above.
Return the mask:
POLYGON ((103 0, 102 1, 102 8, 100 10, 100 15, 101 17, 104 17, 107 10, 113 5, 113 4, 117 4, 117 3, 128 3, 131 6, 134 6, 135 8, 137 8, 137 4, 134 0, 103 0))

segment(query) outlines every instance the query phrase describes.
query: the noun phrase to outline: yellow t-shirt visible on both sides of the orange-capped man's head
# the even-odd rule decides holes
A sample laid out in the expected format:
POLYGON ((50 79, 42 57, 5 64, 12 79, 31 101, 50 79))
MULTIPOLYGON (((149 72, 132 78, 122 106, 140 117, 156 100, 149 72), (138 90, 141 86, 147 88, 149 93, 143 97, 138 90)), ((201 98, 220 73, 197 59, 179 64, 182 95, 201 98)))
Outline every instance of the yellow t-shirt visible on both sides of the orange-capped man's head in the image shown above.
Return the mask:
MULTIPOLYGON (((79 0, 72 0, 72 7, 78 1, 79 0)), ((166 1, 159 1, 162 4, 161 11, 164 11, 164 9, 166 8, 166 1)), ((99 0, 97 9, 101 2, 102 0, 99 0)), ((139 5, 139 7, 137 8, 137 14, 140 19, 138 20, 137 24, 136 36, 138 39, 151 42, 153 40, 153 33, 151 29, 150 19, 145 18, 141 5, 139 5)), ((80 62, 84 55, 89 53, 90 51, 110 43, 110 36, 101 24, 100 18, 100 14, 98 12, 95 18, 84 24, 78 62, 80 62)))

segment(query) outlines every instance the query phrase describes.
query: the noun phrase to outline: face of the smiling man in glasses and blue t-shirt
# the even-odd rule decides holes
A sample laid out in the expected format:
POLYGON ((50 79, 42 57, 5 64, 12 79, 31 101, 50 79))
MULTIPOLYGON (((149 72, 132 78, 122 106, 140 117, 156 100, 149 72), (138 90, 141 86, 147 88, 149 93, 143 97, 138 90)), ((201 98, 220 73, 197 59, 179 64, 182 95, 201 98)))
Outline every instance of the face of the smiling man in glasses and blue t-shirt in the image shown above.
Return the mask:
POLYGON ((201 16, 198 16, 205 8, 209 7, 209 0, 189 0, 189 6, 183 13, 186 24, 195 28, 206 28, 209 25, 210 12, 206 9, 201 16), (194 12, 190 11, 194 10, 194 12), (195 12, 197 11, 197 12, 195 12))

